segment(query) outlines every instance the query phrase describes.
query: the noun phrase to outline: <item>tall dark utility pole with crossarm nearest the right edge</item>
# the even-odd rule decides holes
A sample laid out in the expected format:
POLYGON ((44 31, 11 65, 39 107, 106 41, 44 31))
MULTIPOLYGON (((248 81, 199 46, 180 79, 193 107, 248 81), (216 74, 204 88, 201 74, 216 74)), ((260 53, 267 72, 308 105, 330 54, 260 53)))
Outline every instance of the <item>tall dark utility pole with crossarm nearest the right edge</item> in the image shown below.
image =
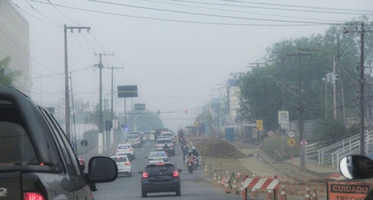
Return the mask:
MULTIPOLYGON (((366 31, 364 28, 364 23, 361 23, 360 30, 358 28, 355 28, 355 31, 348 31, 346 28, 344 28, 343 33, 360 33, 360 80, 359 80, 359 108, 360 108, 360 154, 364 155, 364 84, 365 84, 365 78, 364 78, 364 33, 365 32, 373 32, 373 31, 366 31)), ((367 152, 368 153, 368 152, 367 152)))

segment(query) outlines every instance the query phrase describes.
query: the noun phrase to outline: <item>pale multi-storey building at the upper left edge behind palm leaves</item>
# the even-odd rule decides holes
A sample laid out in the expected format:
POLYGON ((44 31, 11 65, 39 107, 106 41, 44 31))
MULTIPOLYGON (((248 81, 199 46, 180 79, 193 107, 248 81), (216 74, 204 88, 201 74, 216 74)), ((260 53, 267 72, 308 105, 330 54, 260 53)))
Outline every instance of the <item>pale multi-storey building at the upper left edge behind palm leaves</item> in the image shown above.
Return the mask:
POLYGON ((0 60, 8 56, 11 62, 5 69, 5 75, 20 71, 20 77, 13 84, 30 96, 29 22, 18 12, 12 1, 0 0, 0 60))

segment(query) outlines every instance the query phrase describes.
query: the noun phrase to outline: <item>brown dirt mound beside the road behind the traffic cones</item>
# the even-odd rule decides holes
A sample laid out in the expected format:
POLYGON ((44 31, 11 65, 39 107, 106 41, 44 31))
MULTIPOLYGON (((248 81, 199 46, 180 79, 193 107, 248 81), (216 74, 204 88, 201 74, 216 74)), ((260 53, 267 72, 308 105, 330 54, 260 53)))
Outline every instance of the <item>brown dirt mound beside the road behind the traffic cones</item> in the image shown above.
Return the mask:
POLYGON ((203 139, 198 143, 197 148, 203 156, 217 158, 243 158, 242 154, 235 146, 220 138, 203 139))

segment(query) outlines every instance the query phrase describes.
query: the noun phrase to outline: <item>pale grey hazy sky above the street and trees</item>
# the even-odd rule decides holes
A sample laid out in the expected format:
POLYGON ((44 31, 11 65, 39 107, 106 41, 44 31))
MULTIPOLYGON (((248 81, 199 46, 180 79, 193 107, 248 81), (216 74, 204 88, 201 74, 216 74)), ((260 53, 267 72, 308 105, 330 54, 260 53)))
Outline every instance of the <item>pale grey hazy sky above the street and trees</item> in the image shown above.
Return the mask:
MULTIPOLYGON (((48 2, 48 0, 40 1, 48 2)), ((106 4, 89 0, 50 1, 53 4, 120 15, 212 23, 305 24, 242 18, 341 23, 359 16, 357 14, 332 14, 242 7, 256 6, 316 11, 316 9, 311 8, 247 3, 249 0, 242 0, 246 1, 246 3, 230 2, 227 0, 189 0, 239 5, 240 7, 173 0, 110 0, 110 2, 132 6, 242 18, 192 15, 106 4), (218 10, 213 10, 212 8, 218 10)), ((83 31, 84 33, 79 33, 78 31, 74 31, 74 33, 68 32, 69 70, 76 70, 98 63, 98 57, 94 56, 94 52, 114 52, 115 57, 103 57, 103 64, 105 67, 124 67, 123 70, 115 71, 115 85, 138 85, 139 97, 134 98, 134 103, 146 103, 147 108, 151 111, 155 112, 158 109, 161 111, 180 110, 179 112, 161 115, 164 125, 172 129, 176 129, 179 125, 192 123, 194 121, 193 118, 198 113, 198 110, 194 108, 203 106, 205 104, 204 101, 211 98, 209 94, 219 94, 219 92, 211 91, 212 88, 219 87, 216 84, 223 83, 229 78, 228 74, 231 72, 245 72, 248 70, 249 68, 245 67, 245 65, 249 62, 260 61, 260 58, 266 55, 266 48, 270 47, 273 43, 282 39, 323 33, 328 28, 328 26, 228 26, 183 23, 107 15, 56 6, 64 15, 72 19, 73 22, 51 5, 30 0, 13 0, 13 2, 21 9, 39 19, 35 19, 33 16, 20 10, 30 23, 31 56, 38 62, 48 66, 51 70, 48 71, 36 62, 33 62, 32 77, 38 77, 39 74, 52 75, 64 71, 63 24, 78 26, 76 24, 78 23, 83 26, 89 26, 99 44, 95 41, 92 33, 86 33, 86 31, 83 31), (37 11, 58 24, 50 21, 37 11), (45 22, 58 27, 51 26, 45 22), (188 114, 182 111, 184 108, 190 110, 188 114)), ((372 0, 256 0, 255 2, 359 10, 373 8, 372 0)), ((356 11, 333 11, 331 9, 317 11, 362 13, 356 11)), ((72 74, 72 80, 74 82, 73 90, 76 94, 74 98, 81 97, 92 103, 98 102, 99 70, 86 69, 75 72, 72 74)), ((63 75, 45 77, 41 81, 41 90, 44 93, 42 96, 43 102, 55 103, 57 98, 64 96, 63 75)), ((110 81, 111 70, 103 69, 104 95, 110 91, 110 81)), ((34 78, 33 82, 33 90, 39 92, 40 79, 34 78)), ((33 99, 40 100, 40 96, 33 94, 33 99)), ((117 111, 123 110, 123 102, 123 99, 117 101, 117 111)))

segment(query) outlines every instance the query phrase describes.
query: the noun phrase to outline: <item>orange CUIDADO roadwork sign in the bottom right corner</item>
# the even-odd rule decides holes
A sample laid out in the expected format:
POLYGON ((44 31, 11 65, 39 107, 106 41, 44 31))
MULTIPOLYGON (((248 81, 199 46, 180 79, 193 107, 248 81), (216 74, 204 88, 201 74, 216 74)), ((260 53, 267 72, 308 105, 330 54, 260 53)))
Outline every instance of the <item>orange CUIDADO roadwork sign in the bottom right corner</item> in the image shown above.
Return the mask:
POLYGON ((372 184, 356 182, 328 182, 329 200, 363 200, 372 184))

